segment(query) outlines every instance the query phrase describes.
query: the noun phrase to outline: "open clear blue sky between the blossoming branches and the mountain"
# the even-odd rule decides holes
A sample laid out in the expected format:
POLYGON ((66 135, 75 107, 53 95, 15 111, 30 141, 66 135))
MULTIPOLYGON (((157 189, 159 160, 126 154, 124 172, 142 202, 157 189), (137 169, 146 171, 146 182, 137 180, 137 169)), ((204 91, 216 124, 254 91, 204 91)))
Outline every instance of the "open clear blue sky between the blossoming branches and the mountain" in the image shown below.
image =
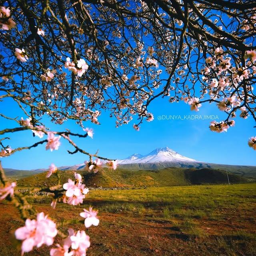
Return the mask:
MULTIPOLYGON (((18 108, 13 107, 11 100, 0 102, 1 112, 12 117, 22 117, 18 108)), ((100 156, 108 158, 126 158, 134 153, 147 154, 158 147, 168 146, 178 153, 199 161, 220 163, 256 165, 256 151, 247 145, 248 138, 256 135, 253 128, 254 121, 239 116, 234 120, 236 125, 230 127, 228 132, 218 134, 208 128, 211 120, 158 120, 162 115, 218 115, 219 121, 224 120, 225 114, 218 110, 214 104, 203 105, 199 112, 190 111, 189 105, 180 102, 171 104, 168 98, 159 98, 150 106, 154 114, 152 122, 144 122, 140 131, 132 128, 134 122, 115 128, 115 119, 109 118, 105 112, 99 118, 101 125, 84 123, 84 126, 94 129, 94 138, 76 139, 75 142, 84 150, 94 153, 99 150, 100 156)), ((24 115, 23 115, 24 117, 24 115)), ((52 130, 68 128, 74 132, 83 132, 74 122, 68 121, 62 126, 55 126, 46 121, 52 130)), ((17 124, 6 122, 0 118, 0 129, 16 127, 17 124)), ((33 137, 31 131, 8 134, 11 137, 9 144, 12 148, 29 146, 40 140, 33 137)), ((46 138, 46 137, 44 137, 46 138)), ((56 166, 74 165, 88 160, 83 154, 68 154, 67 150, 73 148, 61 138, 59 150, 50 152, 45 150, 45 145, 31 150, 17 152, 14 155, 1 158, 4 168, 36 169, 48 168, 51 163, 56 166)))

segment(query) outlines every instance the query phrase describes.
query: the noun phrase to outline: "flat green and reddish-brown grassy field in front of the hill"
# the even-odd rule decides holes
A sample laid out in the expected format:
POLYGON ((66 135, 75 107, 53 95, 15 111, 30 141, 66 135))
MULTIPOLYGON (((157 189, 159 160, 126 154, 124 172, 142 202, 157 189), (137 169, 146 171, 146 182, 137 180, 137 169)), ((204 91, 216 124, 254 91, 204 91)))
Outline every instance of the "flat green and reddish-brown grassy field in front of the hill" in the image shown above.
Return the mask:
MULTIPOLYGON (((256 255, 256 184, 252 183, 94 190, 84 205, 59 203, 56 210, 50 208, 47 196, 29 200, 58 221, 82 219, 79 213, 90 205, 98 209, 100 225, 87 231, 92 243, 89 256, 256 255)), ((13 234, 23 222, 11 204, 1 202, 0 207, 0 255, 18 256, 13 234)), ((66 232, 67 227, 61 230, 66 232)), ((49 248, 28 255, 46 256, 49 248)))

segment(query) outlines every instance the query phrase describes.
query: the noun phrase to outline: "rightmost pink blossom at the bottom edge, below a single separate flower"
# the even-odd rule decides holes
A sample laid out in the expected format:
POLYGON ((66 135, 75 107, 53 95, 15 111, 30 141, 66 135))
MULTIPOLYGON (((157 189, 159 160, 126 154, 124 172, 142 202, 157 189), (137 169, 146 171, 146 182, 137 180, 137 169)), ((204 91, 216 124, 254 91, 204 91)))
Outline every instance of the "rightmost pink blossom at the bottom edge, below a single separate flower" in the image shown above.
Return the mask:
POLYGON ((71 248, 75 250, 76 256, 86 256, 86 250, 90 247, 90 237, 87 236, 84 230, 70 236, 71 248))

